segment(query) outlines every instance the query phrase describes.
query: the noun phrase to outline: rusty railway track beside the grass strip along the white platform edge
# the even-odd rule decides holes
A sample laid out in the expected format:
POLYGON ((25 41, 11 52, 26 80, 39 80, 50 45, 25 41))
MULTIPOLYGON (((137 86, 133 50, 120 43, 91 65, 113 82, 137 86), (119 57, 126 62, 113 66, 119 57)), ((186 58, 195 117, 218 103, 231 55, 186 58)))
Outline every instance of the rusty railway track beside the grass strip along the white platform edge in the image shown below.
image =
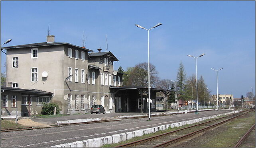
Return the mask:
MULTIPOLYGON (((250 111, 252 111, 252 110, 250 110, 250 111)), ((209 130, 218 125, 224 124, 224 123, 226 123, 232 119, 235 119, 241 115, 244 115, 245 113, 248 113, 250 111, 242 111, 240 113, 221 117, 218 119, 214 119, 211 121, 207 121, 204 123, 186 127, 183 129, 174 130, 174 131, 160 134, 157 136, 145 138, 142 140, 137 140, 137 141, 130 142, 127 144, 122 144, 122 145, 119 145, 116 147, 171 147, 172 143, 178 142, 180 140, 183 140, 185 138, 188 138, 190 136, 198 134, 199 132, 209 130), (226 119, 226 118, 228 118, 228 119, 226 119)))

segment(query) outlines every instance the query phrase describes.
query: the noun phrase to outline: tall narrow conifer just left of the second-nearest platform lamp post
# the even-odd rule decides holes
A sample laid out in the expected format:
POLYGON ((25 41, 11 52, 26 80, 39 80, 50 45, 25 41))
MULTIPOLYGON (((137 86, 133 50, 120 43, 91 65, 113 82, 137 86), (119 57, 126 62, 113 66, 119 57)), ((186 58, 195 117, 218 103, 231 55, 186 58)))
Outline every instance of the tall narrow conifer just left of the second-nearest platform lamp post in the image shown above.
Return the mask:
MULTIPOLYGON (((179 69, 177 72, 177 78, 176 80, 179 80, 177 82, 177 93, 178 93, 178 100, 181 99, 181 104, 183 104, 183 100, 186 101, 188 99, 188 96, 185 94, 185 80, 186 80, 186 73, 184 66, 182 62, 179 63, 179 69)), ((179 102, 179 101, 178 101, 179 102)))

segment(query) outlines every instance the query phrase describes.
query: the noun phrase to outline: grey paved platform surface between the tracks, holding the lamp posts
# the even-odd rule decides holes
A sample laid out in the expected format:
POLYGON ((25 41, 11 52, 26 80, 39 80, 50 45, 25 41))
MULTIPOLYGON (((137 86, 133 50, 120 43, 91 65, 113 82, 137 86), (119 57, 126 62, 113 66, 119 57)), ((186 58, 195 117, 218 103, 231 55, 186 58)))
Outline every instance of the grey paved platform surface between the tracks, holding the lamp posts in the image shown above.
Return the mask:
MULTIPOLYGON (((180 121, 217 115, 228 111, 204 111, 198 115, 194 113, 177 114, 169 116, 151 117, 152 121, 147 121, 148 118, 141 119, 124 119, 122 121, 93 123, 85 125, 71 125, 66 127, 55 127, 48 129, 23 130, 16 132, 1 133, 1 147, 49 147, 57 144, 87 140, 102 136, 110 136, 123 132, 131 132, 159 125, 171 124, 180 121)), ((94 115, 94 114, 93 114, 94 115)), ((121 114, 120 114, 121 115, 121 114)), ((123 114, 122 114, 123 115, 123 114)), ((88 117, 91 115, 88 115, 88 117)), ((97 115, 98 116, 98 115, 97 115)), ((109 118, 110 114, 102 114, 102 117, 109 118)), ((72 116, 69 119, 73 118, 72 116)), ((87 118, 87 117, 86 117, 87 118)), ((39 119, 36 119, 39 120, 39 119)), ((41 119, 40 119, 41 120, 41 119)), ((56 120, 56 119, 47 119, 56 120)), ((49 122, 49 121, 44 121, 49 122)), ((43 122, 43 121, 41 121, 43 122)))

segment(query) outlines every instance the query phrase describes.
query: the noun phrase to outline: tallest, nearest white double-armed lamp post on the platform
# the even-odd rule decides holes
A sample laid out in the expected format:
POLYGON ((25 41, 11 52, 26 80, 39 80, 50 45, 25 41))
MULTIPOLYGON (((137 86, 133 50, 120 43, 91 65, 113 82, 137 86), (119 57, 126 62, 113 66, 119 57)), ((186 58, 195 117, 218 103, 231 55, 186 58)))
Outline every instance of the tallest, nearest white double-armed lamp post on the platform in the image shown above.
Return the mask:
POLYGON ((150 62, 149 62, 149 31, 153 28, 156 28, 160 25, 162 25, 161 23, 156 24, 154 27, 150 28, 150 29, 146 29, 145 27, 142 27, 138 24, 135 24, 137 27, 141 28, 141 29, 145 29, 148 31, 148 120, 150 120, 150 62))

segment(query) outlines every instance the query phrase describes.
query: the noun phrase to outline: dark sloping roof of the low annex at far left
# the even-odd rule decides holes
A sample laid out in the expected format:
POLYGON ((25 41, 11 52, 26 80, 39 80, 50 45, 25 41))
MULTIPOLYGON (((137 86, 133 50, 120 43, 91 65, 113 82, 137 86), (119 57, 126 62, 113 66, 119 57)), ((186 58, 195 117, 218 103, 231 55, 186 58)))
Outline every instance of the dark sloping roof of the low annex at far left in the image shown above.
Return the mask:
POLYGON ((15 92, 26 92, 26 93, 33 93, 33 94, 41 94, 41 95, 53 95, 51 92, 46 92, 42 90, 29 90, 29 89, 22 89, 22 88, 12 88, 12 87, 6 87, 6 86, 1 86, 1 91, 15 91, 15 92))

